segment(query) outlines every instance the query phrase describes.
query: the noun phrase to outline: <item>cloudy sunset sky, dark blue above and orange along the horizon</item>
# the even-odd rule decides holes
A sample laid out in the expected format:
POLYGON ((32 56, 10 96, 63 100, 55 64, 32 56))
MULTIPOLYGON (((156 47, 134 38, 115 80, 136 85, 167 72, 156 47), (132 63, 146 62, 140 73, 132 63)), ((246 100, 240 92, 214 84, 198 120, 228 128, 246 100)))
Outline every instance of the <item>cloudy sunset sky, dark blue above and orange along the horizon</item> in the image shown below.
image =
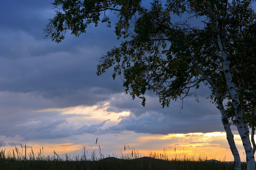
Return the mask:
MULTIPOLYGON (((216 105, 207 88, 195 97, 162 108, 147 93, 146 106, 125 95, 113 69, 97 76, 99 58, 120 40, 106 24, 91 25, 79 38, 66 34, 54 43, 43 28, 52 18, 52 0, 0 1, 0 149, 20 144, 43 147, 45 155, 121 156, 124 145, 138 151, 232 160, 216 105), (96 144, 96 139, 97 144, 96 144), (54 150, 54 151, 53 151, 54 150)), ((234 139, 245 160, 235 127, 234 139)), ((127 152, 126 152, 127 153, 127 152)))

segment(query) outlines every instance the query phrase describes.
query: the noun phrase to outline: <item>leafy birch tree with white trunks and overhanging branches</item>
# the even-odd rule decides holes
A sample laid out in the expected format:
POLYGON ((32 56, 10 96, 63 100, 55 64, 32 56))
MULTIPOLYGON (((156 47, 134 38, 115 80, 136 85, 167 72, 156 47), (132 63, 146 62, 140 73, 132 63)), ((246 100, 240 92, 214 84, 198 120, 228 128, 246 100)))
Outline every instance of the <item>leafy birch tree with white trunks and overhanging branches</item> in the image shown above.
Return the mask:
POLYGON ((55 0, 56 14, 44 29, 59 43, 68 30, 79 37, 89 24, 113 27, 120 46, 100 58, 97 74, 113 68, 126 93, 155 92, 162 107, 195 95, 202 86, 221 112, 234 167, 240 156, 230 125, 237 126, 247 170, 255 170, 255 10, 252 0, 55 0), (118 21, 111 23, 109 15, 118 21), (200 22, 198 26, 195 21, 200 22), (226 105, 223 101, 228 101, 226 105), (251 141, 249 128, 252 128, 251 141))

